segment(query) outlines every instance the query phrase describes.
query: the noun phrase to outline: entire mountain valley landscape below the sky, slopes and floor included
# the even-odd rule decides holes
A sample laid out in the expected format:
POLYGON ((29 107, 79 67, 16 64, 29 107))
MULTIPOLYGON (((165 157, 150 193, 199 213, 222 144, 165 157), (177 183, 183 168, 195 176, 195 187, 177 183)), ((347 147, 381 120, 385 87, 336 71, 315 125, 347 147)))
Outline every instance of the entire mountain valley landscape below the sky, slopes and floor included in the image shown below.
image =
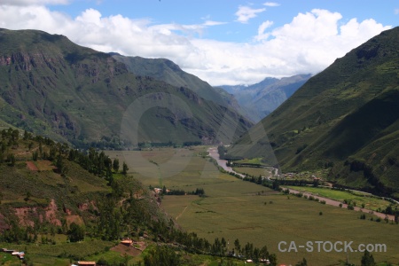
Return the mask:
POLYGON ((0 263, 354 266, 369 245, 399 265, 398 45, 395 27, 318 74, 213 87, 0 28, 0 243, 27 254, 0 263))

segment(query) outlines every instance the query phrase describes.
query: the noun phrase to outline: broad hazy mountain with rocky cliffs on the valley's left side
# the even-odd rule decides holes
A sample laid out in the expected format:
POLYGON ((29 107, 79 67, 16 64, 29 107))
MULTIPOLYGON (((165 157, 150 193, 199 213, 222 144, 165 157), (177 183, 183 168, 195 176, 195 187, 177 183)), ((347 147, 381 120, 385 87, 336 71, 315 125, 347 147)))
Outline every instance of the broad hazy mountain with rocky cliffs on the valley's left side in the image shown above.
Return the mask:
MULTIPOLYGON (((77 146, 97 142, 108 147, 229 143, 252 125, 221 106, 223 98, 192 75, 175 86, 133 74, 134 58, 125 64, 114 57, 63 35, 0 29, 0 119, 77 146), (135 106, 143 107, 139 116, 131 113, 135 106)), ((153 67, 153 75, 179 68, 164 59, 158 60, 164 64, 143 61, 153 67)))

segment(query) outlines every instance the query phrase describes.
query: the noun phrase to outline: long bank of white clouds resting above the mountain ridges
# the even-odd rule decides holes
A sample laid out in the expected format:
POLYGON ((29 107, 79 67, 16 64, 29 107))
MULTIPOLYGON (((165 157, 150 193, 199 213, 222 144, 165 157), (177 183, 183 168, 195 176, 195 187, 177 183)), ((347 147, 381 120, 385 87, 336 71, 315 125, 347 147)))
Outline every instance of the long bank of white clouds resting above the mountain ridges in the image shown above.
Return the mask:
POLYGON ((340 13, 316 9, 299 13, 290 23, 269 32, 272 22, 264 21, 254 32, 253 43, 228 43, 198 37, 207 27, 222 23, 211 20, 198 25, 156 25, 152 20, 121 15, 104 17, 94 9, 71 18, 43 6, 0 4, 0 27, 66 35, 74 43, 98 51, 171 59, 212 85, 315 74, 390 28, 375 20, 341 20, 340 13))

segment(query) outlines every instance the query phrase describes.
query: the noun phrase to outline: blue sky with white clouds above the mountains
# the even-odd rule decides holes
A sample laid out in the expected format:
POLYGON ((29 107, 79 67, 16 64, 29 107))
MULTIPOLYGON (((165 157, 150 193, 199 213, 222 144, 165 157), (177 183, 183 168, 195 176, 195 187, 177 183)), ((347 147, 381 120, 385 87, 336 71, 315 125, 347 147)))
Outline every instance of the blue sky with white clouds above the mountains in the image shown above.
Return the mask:
POLYGON ((213 86, 317 74, 398 26, 397 0, 0 0, 0 27, 164 58, 213 86))

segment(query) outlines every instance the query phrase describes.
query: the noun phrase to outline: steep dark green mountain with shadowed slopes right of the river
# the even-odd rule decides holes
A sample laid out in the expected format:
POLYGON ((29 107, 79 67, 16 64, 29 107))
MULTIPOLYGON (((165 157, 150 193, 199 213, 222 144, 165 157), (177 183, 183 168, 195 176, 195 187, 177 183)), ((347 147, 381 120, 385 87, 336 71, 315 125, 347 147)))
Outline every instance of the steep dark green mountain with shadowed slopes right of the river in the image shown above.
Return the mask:
POLYGON ((399 197, 399 27, 382 32, 313 76, 229 153, 272 147, 286 171, 399 197))

